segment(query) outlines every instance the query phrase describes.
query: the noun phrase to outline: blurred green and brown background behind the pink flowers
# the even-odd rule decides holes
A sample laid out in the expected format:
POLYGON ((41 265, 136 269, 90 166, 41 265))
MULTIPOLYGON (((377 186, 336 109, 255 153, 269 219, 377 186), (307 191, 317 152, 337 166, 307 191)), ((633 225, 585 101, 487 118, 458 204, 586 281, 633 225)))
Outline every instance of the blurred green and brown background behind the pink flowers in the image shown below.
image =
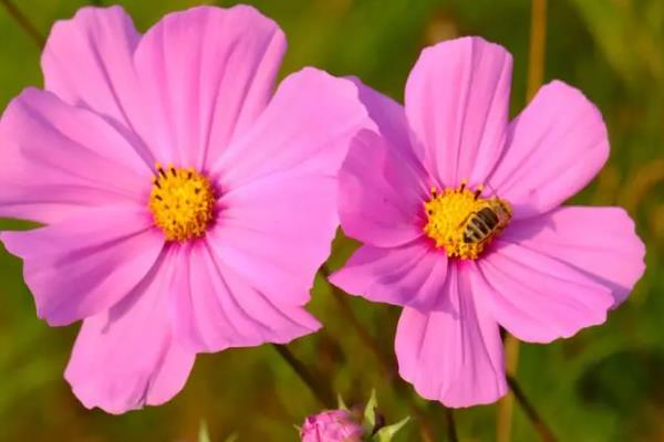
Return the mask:
MULTIPOLYGON (((478 34, 515 56, 512 112, 526 96, 530 1, 508 0, 282 0, 247 1, 277 20, 290 48, 282 75, 315 65, 356 74, 402 99, 419 50, 436 41, 478 34)), ((17 1, 46 34, 84 1, 17 1)), ((101 1, 90 3, 102 3, 101 1)), ((196 1, 120 1, 141 30, 164 13, 196 1)), ((217 2, 228 6, 230 1, 217 2)), ((521 346, 518 378, 562 441, 664 441, 664 1, 556 0, 548 6, 546 81, 580 87, 609 125, 609 164, 573 202, 620 204, 637 221, 647 244, 647 271, 630 299, 601 327, 549 346, 521 346)), ((0 8, 0 108, 29 85, 41 85, 37 45, 0 8)), ((0 160, 1 155, 0 155, 0 160)), ((15 228, 0 222, 0 228, 15 228)), ((0 246, 1 248, 1 246, 0 246)), ((353 244, 335 244, 331 266, 353 244)), ((320 408, 273 348, 199 356, 184 391, 168 404, 122 417, 85 410, 62 378, 77 326, 49 328, 35 317, 20 262, 0 249, 1 441, 195 441, 201 420, 212 440, 238 431, 240 441, 290 441, 294 423, 320 408)), ((412 414, 414 400, 444 440, 440 406, 417 400, 376 350, 392 358, 398 309, 346 299, 374 337, 370 349, 349 326, 347 313, 318 281, 311 311, 325 329, 290 348, 346 402, 377 389, 388 421, 412 414)), ((489 441, 496 406, 456 412, 460 440, 489 441)), ((408 424, 398 441, 418 441, 408 424)), ((537 435, 518 407, 513 440, 537 435)))

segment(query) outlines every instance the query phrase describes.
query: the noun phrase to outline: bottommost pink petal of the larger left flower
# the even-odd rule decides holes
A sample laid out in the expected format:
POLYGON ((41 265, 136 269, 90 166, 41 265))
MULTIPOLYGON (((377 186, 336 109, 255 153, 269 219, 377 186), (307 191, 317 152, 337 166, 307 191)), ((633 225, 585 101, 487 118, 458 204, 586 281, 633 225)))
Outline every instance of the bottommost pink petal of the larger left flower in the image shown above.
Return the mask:
POLYGON ((124 301, 83 322, 65 378, 85 407, 123 413, 162 404, 184 387, 195 354, 170 332, 174 265, 166 255, 124 301))

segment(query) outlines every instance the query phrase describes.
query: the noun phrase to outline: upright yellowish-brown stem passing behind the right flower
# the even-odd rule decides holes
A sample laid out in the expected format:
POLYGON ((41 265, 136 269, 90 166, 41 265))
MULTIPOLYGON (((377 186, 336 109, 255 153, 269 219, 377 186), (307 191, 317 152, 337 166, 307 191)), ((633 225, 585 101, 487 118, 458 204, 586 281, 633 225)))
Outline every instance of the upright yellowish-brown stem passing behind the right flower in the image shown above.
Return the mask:
MULTIPOLYGON (((544 76, 546 41, 547 0, 532 0, 532 9, 530 13, 530 48, 528 53, 528 82, 526 85, 527 102, 532 99, 542 84, 544 76)), ((505 338, 505 359, 507 375, 513 380, 513 377, 517 375, 517 367, 519 365, 519 340, 509 334, 505 338)), ((513 396, 508 393, 498 403, 496 422, 497 442, 509 442, 511 440, 513 400, 513 396)))

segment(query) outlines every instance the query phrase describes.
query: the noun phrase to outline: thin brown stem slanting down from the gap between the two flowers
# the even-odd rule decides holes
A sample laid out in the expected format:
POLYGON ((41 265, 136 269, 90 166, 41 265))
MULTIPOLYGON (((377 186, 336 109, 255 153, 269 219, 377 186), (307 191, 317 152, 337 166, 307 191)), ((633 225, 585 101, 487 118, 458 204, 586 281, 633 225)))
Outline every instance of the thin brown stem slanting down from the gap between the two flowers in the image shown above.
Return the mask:
MULTIPOLYGON (((330 276, 330 269, 328 267, 326 264, 324 264, 321 267, 321 274, 323 275, 325 282, 328 283, 330 290, 332 291, 332 296, 339 304, 339 307, 340 307, 342 314, 344 315, 344 317, 346 318, 346 320, 349 322, 351 327, 353 327, 353 329, 360 337, 360 340, 362 340, 364 346, 374 355, 374 357, 378 361, 378 365, 383 371, 383 375, 392 382, 392 380, 396 376, 396 370, 394 369, 393 359, 391 357, 388 357, 387 355, 385 355, 383 351, 381 351, 381 347, 377 345, 375 338, 366 330, 366 328, 364 328, 364 326, 362 325, 360 319, 357 319, 357 317, 355 316, 355 313, 353 312, 353 309, 351 308, 351 306, 346 299, 346 297, 349 295, 346 295, 341 288, 339 288, 335 285, 332 285, 328 282, 328 276, 330 276)), ((394 385, 394 387, 400 394, 404 393, 404 396, 405 396, 405 391, 404 391, 405 386, 403 383, 396 382, 394 385)), ((423 410, 421 410, 419 407, 417 407, 417 404, 411 400, 408 400, 406 402, 406 404, 407 404, 411 413, 413 414, 413 417, 419 424, 419 436, 422 438, 422 441, 423 442, 434 442, 436 439, 434 438, 434 432, 433 432, 432 425, 428 423, 423 410)), ((456 441, 456 439, 454 441, 456 441)))

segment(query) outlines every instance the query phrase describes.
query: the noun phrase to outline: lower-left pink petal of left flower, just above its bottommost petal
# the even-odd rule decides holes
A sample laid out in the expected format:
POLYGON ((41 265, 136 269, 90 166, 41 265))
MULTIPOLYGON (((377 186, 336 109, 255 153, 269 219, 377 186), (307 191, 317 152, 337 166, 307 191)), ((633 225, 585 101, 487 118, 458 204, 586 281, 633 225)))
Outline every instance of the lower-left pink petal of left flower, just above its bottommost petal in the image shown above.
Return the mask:
POLYGON ((141 282, 164 244, 151 223, 144 211, 110 207, 0 239, 23 259, 39 316, 66 325, 112 307, 141 282))

